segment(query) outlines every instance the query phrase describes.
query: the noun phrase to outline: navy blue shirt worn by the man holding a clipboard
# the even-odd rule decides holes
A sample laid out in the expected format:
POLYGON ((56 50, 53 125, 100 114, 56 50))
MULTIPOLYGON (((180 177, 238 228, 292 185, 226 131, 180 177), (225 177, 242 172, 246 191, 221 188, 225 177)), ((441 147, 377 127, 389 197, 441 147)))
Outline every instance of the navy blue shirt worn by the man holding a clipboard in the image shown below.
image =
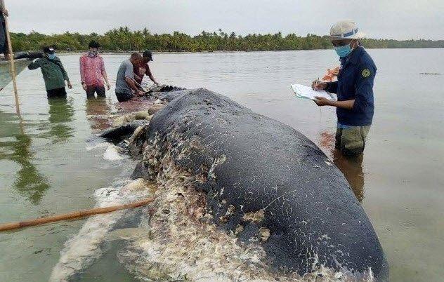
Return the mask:
POLYGON ((337 107, 338 122, 346 126, 370 126, 373 120, 373 81, 377 67, 361 46, 341 60, 338 81, 327 83, 326 90, 337 93, 338 101, 355 100, 353 109, 337 107))

